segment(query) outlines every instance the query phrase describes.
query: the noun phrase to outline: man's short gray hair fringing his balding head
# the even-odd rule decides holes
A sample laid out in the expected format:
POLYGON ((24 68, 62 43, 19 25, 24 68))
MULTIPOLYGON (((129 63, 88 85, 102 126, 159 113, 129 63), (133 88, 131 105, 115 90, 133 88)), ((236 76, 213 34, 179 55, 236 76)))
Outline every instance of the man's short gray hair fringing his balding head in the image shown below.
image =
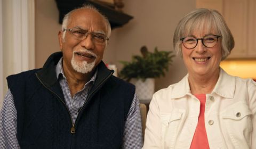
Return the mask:
POLYGON ((69 13, 67 13, 64 18, 63 18, 63 21, 62 21, 62 26, 61 26, 61 30, 63 31, 63 34, 62 34, 62 39, 63 41, 65 41, 65 35, 66 35, 66 31, 64 31, 64 29, 67 29, 68 27, 68 20, 69 20, 69 17, 70 15, 79 10, 79 9, 91 9, 91 10, 94 10, 98 13, 100 13, 102 15, 102 18, 104 19, 104 21, 106 22, 106 25, 107 25, 107 37, 109 38, 110 37, 110 34, 111 34, 111 26, 110 26, 110 23, 107 19, 107 17, 105 15, 103 15, 97 8, 95 8, 93 5, 83 5, 82 7, 79 7, 77 9, 74 9, 72 11, 70 11, 69 13))

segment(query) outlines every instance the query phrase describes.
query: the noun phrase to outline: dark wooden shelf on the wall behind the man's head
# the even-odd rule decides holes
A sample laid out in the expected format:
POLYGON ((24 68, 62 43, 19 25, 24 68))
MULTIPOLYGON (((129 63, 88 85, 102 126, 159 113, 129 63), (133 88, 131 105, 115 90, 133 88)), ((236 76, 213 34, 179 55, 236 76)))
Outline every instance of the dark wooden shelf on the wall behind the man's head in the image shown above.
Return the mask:
POLYGON ((59 23, 62 23, 63 17, 69 11, 82 6, 83 4, 91 4, 95 6, 102 14, 104 14, 111 25, 111 28, 118 28, 122 27, 124 24, 128 23, 133 16, 125 14, 123 12, 116 11, 110 6, 107 6, 103 3, 98 1, 91 1, 91 0, 55 0, 57 3, 57 7, 59 10, 59 23))

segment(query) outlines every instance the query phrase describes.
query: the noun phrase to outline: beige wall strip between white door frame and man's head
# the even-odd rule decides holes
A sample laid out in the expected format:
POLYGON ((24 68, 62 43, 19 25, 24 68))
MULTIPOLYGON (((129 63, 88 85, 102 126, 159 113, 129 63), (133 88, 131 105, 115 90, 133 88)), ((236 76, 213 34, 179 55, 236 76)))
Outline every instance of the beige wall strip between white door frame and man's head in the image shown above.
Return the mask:
POLYGON ((36 0, 36 68, 43 67, 47 57, 60 51, 59 12, 53 0, 36 0))

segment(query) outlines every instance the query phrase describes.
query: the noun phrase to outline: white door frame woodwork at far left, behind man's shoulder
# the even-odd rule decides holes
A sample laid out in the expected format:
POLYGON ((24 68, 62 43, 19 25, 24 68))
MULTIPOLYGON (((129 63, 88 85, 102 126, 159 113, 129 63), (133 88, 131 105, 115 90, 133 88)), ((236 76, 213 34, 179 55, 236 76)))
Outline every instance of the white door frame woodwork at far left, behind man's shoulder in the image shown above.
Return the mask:
POLYGON ((10 74, 35 68, 35 0, 0 0, 0 2, 1 107, 4 94, 7 92, 5 78, 10 74), (9 20, 4 21, 6 19, 9 20), (7 35, 3 33, 3 27, 9 31, 7 35))

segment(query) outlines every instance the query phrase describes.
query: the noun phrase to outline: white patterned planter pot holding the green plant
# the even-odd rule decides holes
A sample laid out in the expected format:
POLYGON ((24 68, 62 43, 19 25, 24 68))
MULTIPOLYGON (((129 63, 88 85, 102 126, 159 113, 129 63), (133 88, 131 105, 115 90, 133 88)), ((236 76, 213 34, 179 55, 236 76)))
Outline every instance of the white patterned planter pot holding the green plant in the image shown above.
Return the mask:
POLYGON ((141 79, 131 79, 130 81, 136 87, 136 94, 139 100, 150 101, 155 92, 155 79, 147 78, 145 81, 141 79))

